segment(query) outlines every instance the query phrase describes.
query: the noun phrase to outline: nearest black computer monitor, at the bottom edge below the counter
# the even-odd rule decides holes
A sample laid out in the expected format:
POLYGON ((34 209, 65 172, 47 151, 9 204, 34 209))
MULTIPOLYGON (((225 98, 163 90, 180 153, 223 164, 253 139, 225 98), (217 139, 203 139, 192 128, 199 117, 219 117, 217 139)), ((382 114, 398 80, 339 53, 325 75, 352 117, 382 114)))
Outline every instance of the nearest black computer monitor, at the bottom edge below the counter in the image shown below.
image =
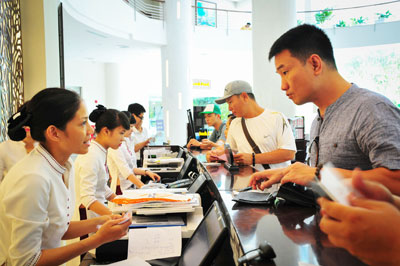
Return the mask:
POLYGON ((223 213, 218 202, 214 201, 183 249, 178 265, 211 265, 227 235, 223 213))

